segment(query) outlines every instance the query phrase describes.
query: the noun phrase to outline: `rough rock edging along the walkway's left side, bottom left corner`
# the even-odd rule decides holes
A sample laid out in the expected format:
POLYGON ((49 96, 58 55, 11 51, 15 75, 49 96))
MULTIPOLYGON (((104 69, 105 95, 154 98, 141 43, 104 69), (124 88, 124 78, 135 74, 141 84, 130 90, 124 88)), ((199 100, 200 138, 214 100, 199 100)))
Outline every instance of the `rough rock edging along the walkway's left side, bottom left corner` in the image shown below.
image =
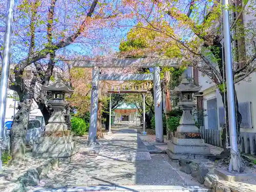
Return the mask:
POLYGON ((48 159, 44 164, 28 169, 23 176, 16 180, 15 187, 11 192, 26 192, 28 186, 37 186, 40 183, 40 175, 48 174, 53 167, 59 167, 58 158, 48 159))

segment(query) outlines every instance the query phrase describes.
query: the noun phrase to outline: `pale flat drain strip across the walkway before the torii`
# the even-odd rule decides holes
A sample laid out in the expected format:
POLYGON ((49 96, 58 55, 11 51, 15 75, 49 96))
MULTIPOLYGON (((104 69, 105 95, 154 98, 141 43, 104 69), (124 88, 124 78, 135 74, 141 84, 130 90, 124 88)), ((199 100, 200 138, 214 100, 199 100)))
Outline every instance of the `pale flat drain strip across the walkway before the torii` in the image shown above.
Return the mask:
POLYGON ((123 161, 135 161, 135 160, 151 160, 149 152, 134 152, 134 153, 106 153, 100 152, 96 157, 96 160, 123 160, 123 161))

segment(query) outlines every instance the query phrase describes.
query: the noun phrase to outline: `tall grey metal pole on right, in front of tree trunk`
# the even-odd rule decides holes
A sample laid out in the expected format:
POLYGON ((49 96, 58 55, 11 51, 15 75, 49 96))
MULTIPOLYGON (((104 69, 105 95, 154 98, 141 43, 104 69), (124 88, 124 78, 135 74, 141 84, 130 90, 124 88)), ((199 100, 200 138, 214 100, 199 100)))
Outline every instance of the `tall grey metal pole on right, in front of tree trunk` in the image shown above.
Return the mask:
POLYGON ((227 105, 228 105, 228 122, 229 122, 229 136, 231 147, 231 158, 229 170, 236 172, 240 171, 240 163, 238 159, 238 142, 237 142, 237 124, 236 124, 236 110, 234 100, 234 84, 233 84, 233 70, 232 70, 232 53, 231 53, 231 39, 229 26, 229 11, 228 0, 223 0, 223 32, 224 32, 224 50, 225 50, 225 65, 226 65, 226 87, 227 87, 227 105))

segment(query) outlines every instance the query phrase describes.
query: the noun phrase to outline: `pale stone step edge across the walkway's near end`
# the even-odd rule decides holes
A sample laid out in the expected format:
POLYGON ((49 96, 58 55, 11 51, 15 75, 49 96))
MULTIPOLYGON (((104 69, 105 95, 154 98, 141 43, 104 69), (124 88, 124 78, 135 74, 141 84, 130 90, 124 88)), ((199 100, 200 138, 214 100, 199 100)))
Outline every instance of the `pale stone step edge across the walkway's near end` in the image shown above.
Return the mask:
POLYGON ((63 186, 63 187, 34 187, 31 191, 164 191, 164 192, 210 192, 211 189, 199 186, 179 186, 179 185, 94 185, 94 186, 63 186))

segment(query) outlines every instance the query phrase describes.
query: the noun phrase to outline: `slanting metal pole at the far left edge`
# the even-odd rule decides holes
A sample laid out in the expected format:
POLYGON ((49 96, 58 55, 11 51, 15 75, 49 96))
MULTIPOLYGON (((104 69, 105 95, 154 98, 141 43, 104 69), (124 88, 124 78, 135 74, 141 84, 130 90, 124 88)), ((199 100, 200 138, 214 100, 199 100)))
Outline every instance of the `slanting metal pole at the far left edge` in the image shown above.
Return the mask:
MULTIPOLYGON (((14 0, 9 0, 8 12, 6 18, 4 53, 2 61, 2 73, 0 81, 0 145, 3 145, 4 129, 5 129, 5 111, 8 88, 8 77, 10 69, 10 54, 11 54, 11 36, 12 36, 12 20, 13 20, 14 0)), ((0 146, 0 157, 2 157, 2 147, 0 146)), ((0 172, 2 172, 2 161, 0 161, 0 172)))

